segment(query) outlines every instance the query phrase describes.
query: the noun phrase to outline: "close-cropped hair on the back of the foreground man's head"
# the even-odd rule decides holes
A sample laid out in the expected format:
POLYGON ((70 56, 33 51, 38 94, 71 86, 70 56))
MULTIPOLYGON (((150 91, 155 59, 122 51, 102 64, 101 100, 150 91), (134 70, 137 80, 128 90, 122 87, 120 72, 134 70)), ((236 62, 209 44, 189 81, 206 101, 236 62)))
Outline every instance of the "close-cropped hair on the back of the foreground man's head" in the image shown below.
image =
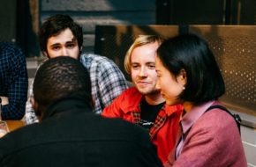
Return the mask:
POLYGON ((92 105, 91 81, 78 60, 59 56, 44 62, 34 77, 34 100, 43 109, 61 98, 79 97, 92 105))

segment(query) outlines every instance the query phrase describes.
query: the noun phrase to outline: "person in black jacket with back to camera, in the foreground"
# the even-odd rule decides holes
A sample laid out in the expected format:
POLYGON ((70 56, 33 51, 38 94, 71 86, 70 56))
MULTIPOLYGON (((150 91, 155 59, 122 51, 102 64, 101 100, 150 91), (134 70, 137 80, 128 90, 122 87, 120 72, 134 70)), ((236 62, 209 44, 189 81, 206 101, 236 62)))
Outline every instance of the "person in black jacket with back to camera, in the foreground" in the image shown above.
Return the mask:
POLYGON ((162 166, 144 129, 93 113, 90 76, 78 60, 43 63, 33 91, 40 122, 0 139, 0 166, 162 166))

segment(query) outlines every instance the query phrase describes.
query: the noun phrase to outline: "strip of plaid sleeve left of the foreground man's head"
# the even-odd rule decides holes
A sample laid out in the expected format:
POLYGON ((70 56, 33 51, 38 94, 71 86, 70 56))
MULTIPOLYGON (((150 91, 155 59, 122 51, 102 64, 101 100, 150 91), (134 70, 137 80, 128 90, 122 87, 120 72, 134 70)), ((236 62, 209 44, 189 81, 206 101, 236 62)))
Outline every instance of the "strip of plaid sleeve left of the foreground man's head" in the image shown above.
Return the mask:
POLYGON ((31 101, 30 101, 31 98, 34 98, 33 83, 34 83, 34 80, 32 81, 31 85, 29 86, 28 99, 26 101, 26 113, 25 113, 26 125, 33 124, 34 122, 38 122, 38 119, 37 119, 37 117, 35 116, 35 113, 34 113, 34 108, 32 107, 32 104, 31 104, 31 101))

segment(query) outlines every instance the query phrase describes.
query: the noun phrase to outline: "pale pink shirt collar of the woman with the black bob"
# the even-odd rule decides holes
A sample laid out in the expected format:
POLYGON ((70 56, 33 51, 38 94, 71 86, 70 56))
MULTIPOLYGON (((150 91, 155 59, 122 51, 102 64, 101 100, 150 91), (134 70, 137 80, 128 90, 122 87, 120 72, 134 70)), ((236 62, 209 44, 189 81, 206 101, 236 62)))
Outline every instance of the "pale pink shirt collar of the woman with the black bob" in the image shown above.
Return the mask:
POLYGON ((192 107, 192 111, 185 113, 184 117, 180 120, 183 134, 186 134, 192 125, 199 120, 200 116, 206 112, 207 108, 215 103, 214 101, 206 102, 202 105, 192 107))

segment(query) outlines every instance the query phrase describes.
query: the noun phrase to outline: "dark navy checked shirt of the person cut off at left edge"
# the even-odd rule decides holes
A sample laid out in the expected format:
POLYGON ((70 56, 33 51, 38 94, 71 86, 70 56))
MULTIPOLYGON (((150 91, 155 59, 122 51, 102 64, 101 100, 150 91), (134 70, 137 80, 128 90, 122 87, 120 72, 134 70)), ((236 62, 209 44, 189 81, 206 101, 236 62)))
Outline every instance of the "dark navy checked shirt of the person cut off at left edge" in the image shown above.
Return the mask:
POLYGON ((7 97, 2 107, 3 120, 20 120, 25 113, 27 97, 26 57, 12 43, 0 42, 0 96, 7 97))

